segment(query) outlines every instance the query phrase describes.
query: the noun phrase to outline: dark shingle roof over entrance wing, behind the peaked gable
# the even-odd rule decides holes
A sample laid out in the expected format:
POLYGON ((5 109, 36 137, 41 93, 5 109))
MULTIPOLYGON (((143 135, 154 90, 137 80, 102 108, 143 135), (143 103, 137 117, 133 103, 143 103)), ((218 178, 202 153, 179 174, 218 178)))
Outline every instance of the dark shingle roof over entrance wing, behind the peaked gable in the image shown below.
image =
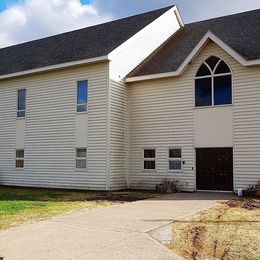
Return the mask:
POLYGON ((260 59, 260 9, 185 25, 162 48, 128 76, 178 70, 205 34, 211 31, 246 60, 260 59))

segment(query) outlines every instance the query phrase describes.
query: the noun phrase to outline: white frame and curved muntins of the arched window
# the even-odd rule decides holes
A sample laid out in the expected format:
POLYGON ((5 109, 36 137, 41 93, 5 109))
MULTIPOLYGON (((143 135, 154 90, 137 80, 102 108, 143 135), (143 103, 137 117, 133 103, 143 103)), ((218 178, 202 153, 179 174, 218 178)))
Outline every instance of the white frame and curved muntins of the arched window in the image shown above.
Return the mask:
MULTIPOLYGON (((214 56, 214 55, 211 55, 211 56, 214 56)), ((212 69, 210 68, 210 66, 206 63, 206 60, 209 59, 211 56, 209 56, 208 58, 206 58, 199 66, 198 70, 196 71, 196 75, 200 69, 200 67, 204 64, 207 66, 207 68, 209 69, 210 71, 210 75, 206 75, 206 76, 195 76, 194 78, 194 108, 196 109, 203 109, 203 108, 212 108, 212 107, 225 107, 225 106, 232 106, 233 105, 233 76, 232 76, 232 70, 229 66, 229 64, 222 58, 219 58, 218 56, 215 56, 216 58, 219 59, 219 61, 217 62, 217 64, 215 65, 215 68, 214 70, 212 71, 212 69), (225 64, 228 66, 230 72, 228 73, 222 73, 222 74, 215 74, 215 71, 218 67, 218 65, 220 64, 220 62, 223 61, 225 62, 225 64), (231 76, 231 94, 232 94, 232 98, 231 98, 231 103, 230 104, 222 104, 222 105, 215 105, 215 102, 214 102, 214 78, 217 78, 217 77, 222 77, 222 76, 231 76), (197 79, 211 79, 211 105, 209 106, 196 106, 196 80, 197 79)))

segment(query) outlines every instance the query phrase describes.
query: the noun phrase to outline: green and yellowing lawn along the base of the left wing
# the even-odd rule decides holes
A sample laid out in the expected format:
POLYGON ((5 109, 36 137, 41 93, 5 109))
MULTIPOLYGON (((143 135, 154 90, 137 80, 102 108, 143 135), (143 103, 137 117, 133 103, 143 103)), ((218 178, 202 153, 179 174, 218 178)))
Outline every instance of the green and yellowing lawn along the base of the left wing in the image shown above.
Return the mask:
POLYGON ((109 206, 154 196, 151 192, 89 192, 0 186, 0 230, 84 208, 109 206))

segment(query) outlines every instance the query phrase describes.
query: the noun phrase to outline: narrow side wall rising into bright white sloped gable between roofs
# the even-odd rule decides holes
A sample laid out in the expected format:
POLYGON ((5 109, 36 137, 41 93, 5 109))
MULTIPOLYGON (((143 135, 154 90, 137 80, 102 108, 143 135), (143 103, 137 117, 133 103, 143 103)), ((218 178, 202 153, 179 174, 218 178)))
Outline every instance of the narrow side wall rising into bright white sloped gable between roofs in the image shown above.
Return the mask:
POLYGON ((126 188, 127 184, 127 86, 123 78, 180 28, 175 9, 164 13, 109 54, 111 189, 126 188))

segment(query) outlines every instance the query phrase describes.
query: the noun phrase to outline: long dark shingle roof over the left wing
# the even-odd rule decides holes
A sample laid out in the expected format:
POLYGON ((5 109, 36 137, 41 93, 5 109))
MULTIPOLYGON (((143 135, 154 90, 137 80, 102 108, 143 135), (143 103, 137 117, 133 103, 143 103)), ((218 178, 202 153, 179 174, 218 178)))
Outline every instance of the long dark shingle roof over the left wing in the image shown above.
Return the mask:
POLYGON ((170 8, 0 49, 0 75, 108 55, 170 8))

